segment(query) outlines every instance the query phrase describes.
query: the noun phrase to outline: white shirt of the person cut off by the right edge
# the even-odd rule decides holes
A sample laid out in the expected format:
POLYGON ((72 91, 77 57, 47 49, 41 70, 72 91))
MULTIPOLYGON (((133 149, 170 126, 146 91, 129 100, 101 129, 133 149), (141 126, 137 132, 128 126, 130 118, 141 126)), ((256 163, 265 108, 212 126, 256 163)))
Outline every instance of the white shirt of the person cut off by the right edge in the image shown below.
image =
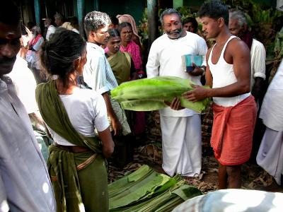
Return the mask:
POLYGON ((283 62, 272 79, 263 99, 260 119, 270 129, 283 131, 283 62))

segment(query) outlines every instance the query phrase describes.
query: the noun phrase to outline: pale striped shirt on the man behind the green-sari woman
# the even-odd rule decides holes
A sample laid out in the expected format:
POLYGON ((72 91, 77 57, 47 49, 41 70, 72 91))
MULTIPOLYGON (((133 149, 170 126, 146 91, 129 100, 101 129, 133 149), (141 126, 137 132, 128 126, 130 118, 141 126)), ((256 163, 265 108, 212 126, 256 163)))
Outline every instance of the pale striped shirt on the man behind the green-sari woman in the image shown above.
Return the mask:
POLYGON ((100 94, 116 88, 118 83, 108 60, 105 58, 104 49, 94 43, 87 42, 86 51, 87 62, 83 68, 83 80, 100 94))

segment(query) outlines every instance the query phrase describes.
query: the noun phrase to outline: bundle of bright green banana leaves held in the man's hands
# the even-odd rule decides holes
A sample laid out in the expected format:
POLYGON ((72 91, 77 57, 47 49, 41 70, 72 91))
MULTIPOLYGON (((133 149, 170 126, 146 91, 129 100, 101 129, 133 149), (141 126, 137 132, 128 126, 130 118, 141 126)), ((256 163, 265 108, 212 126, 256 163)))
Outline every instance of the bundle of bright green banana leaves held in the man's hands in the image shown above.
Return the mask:
MULTIPOLYGON (((182 94, 192 90, 192 81, 175 76, 157 76, 122 83, 111 90, 111 97, 125 110, 151 111, 168 107, 165 102, 180 98, 180 105, 202 112, 209 105, 209 98, 199 102, 185 100, 182 94)), ((204 86, 207 88, 207 86, 204 86)))

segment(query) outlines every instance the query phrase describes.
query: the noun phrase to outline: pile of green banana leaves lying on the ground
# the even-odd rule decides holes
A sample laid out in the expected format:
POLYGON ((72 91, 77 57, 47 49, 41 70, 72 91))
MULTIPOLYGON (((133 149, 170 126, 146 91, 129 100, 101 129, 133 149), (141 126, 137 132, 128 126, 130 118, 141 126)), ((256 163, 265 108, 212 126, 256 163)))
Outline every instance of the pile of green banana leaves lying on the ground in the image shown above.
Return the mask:
POLYGON ((180 176, 159 174, 148 165, 108 185, 110 211, 172 211, 187 199, 202 195, 180 176))

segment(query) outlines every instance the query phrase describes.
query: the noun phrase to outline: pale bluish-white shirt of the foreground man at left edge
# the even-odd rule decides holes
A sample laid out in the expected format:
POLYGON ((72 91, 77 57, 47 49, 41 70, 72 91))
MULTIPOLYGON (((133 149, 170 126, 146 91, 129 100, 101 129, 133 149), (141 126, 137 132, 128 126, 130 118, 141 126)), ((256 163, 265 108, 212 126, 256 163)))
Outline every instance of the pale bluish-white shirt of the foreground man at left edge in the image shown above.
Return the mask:
POLYGON ((55 211, 52 184, 25 107, 0 79, 0 211, 55 211))

